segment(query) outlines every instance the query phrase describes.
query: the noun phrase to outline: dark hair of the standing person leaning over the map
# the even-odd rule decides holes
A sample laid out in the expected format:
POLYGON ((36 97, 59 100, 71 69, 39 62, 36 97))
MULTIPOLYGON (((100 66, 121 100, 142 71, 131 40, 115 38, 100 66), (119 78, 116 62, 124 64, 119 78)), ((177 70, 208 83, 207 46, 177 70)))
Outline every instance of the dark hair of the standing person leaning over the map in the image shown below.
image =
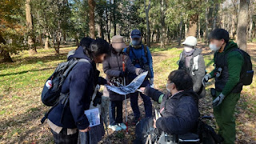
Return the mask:
POLYGON ((94 57, 100 54, 110 54, 110 44, 102 38, 97 38, 94 42, 91 42, 88 51, 94 57))

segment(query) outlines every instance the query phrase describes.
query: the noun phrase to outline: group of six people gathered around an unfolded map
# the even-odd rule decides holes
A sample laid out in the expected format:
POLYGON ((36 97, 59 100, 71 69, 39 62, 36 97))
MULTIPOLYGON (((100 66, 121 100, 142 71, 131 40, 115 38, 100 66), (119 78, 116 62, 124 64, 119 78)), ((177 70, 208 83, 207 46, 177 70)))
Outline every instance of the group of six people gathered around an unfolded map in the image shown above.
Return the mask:
POLYGON ((140 30, 132 30, 130 46, 126 46, 122 36, 115 35, 111 44, 97 38, 82 38, 77 50, 70 52, 68 60, 84 58, 89 62, 78 62, 68 74, 62 86, 62 94, 69 94, 69 107, 63 112, 59 103, 48 115, 48 124, 55 143, 97 143, 105 134, 103 122, 109 128, 126 130, 123 121, 123 101, 130 98, 134 112, 132 124, 141 120, 138 95, 143 100, 145 117, 152 118, 151 99, 160 104, 161 118, 154 120, 154 128, 168 134, 193 132, 198 125, 200 113, 198 99, 206 95, 206 82, 215 78, 216 95, 213 96, 214 117, 219 134, 224 143, 234 143, 234 108, 242 90, 240 73, 243 65, 242 54, 234 50, 237 44, 230 41, 229 33, 215 29, 210 33, 210 50, 214 50, 214 70, 206 74, 202 50, 197 48, 197 38, 187 37, 182 42, 183 51, 178 61, 178 70, 170 72, 163 94, 154 89, 153 60, 148 46, 142 44, 140 30), (99 77, 97 64, 102 63, 106 78, 99 77), (140 92, 126 97, 106 89, 98 92, 100 85, 121 86, 129 84, 139 74, 148 71, 140 92), (150 99, 151 98, 151 99, 150 99), (90 127, 85 110, 98 107, 101 124, 90 127), (61 121, 62 119, 62 121, 61 121))

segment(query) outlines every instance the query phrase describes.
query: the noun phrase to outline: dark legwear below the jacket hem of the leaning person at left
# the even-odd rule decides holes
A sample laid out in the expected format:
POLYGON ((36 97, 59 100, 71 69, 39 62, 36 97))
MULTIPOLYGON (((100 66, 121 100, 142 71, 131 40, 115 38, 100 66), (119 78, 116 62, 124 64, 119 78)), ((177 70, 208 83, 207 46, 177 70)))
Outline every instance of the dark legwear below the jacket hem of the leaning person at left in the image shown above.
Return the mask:
POLYGON ((54 135, 54 143, 56 144, 77 144, 78 143, 78 131, 75 134, 67 135, 67 129, 63 128, 62 131, 58 134, 51 130, 51 133, 54 135))

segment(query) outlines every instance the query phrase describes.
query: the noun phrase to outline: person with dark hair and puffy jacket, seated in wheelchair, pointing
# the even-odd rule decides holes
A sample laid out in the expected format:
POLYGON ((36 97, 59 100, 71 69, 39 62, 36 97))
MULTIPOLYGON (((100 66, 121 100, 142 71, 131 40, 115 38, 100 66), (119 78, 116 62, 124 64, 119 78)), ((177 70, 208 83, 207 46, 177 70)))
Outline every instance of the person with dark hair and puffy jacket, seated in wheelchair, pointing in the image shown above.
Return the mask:
MULTIPOLYGON (((168 134, 187 134, 197 130, 200 116, 198 95, 192 88, 193 80, 185 70, 174 70, 169 74, 166 83, 168 93, 166 94, 150 86, 140 88, 143 94, 160 104, 159 112, 162 117, 154 119, 154 128, 168 134)), ((140 129, 139 126, 136 126, 136 130, 140 129)), ((139 134, 136 136, 136 142, 142 143, 143 138, 138 138, 139 134)))

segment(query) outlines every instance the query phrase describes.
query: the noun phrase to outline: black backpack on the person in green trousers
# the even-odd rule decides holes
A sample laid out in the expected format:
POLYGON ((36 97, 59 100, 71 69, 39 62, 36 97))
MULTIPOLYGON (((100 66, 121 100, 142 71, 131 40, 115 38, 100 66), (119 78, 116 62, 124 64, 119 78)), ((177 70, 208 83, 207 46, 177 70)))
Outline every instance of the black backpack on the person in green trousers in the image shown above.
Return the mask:
POLYGON ((246 53, 246 51, 241 49, 238 49, 238 52, 242 54, 243 57, 243 65, 240 80, 244 86, 248 86, 253 82, 254 78, 254 70, 250 59, 250 55, 246 53))

